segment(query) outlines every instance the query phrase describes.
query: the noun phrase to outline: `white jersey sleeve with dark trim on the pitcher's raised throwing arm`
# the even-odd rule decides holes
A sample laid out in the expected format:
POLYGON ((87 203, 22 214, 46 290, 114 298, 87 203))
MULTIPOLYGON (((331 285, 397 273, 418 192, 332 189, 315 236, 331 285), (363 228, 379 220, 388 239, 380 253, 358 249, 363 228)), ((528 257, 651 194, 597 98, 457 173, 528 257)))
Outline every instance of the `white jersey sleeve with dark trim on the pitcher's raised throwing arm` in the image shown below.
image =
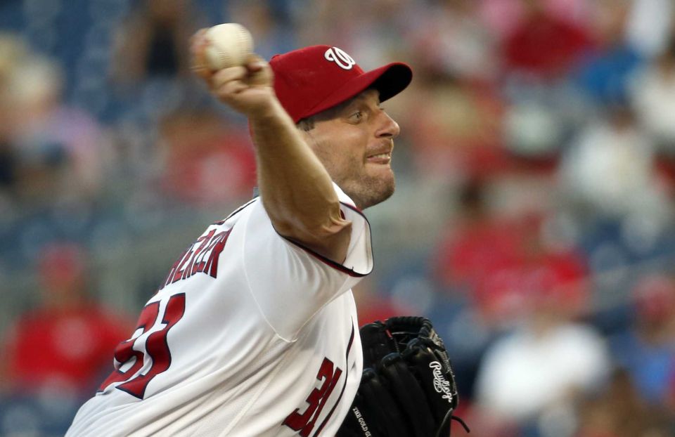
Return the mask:
MULTIPOLYGON (((354 202, 335 185, 340 209, 352 222, 343 263, 279 235, 262 202, 251 205, 243 224, 243 265, 250 293, 269 325, 293 341, 314 313, 373 270, 371 230, 354 202)), ((238 223, 239 224, 239 223, 238 223)))

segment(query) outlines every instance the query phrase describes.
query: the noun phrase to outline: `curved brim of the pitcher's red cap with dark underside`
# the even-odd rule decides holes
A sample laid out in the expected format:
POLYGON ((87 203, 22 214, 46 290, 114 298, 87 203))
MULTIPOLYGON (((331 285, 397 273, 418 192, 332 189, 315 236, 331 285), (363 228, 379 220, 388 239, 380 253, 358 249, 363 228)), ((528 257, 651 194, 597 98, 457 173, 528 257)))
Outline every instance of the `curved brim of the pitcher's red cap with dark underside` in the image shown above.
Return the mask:
POLYGON ((375 68, 359 77, 347 81, 346 84, 330 93, 330 95, 321 100, 321 102, 312 107, 303 114, 295 122, 301 119, 311 117, 319 112, 325 111, 330 107, 339 105, 345 100, 356 96, 368 88, 374 88, 380 91, 380 102, 396 96, 398 93, 406 89, 413 79, 413 71, 404 63, 391 63, 383 67, 375 68))

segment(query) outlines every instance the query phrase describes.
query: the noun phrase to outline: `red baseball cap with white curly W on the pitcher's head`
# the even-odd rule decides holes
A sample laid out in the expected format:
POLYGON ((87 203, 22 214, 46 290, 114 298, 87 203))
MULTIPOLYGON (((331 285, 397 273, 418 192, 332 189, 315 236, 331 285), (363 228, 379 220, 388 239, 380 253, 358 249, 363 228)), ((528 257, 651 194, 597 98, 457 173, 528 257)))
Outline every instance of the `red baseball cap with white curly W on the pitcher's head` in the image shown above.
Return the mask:
POLYGON ((274 71, 276 96, 295 123, 370 87, 380 91, 383 102, 403 91, 413 78, 404 63, 364 72, 345 51, 331 46, 309 46, 275 55, 269 65, 274 71))

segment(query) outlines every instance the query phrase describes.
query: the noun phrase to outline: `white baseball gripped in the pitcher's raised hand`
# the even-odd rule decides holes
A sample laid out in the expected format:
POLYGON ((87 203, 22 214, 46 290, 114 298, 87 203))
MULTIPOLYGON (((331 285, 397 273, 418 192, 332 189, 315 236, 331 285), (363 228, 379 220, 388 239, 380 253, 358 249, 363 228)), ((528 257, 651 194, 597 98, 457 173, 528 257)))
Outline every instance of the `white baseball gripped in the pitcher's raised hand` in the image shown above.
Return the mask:
POLYGON ((211 70, 243 65, 253 52, 251 32, 236 22, 226 22, 206 31, 210 44, 205 48, 206 63, 211 70))

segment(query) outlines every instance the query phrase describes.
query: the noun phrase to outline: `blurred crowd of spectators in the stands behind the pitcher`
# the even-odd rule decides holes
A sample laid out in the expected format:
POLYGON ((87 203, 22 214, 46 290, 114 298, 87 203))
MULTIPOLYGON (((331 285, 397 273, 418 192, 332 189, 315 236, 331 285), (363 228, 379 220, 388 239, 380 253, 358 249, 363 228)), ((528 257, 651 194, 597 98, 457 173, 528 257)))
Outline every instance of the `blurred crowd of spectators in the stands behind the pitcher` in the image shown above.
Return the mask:
MULTIPOLYGON (((675 435, 671 0, 0 3, 0 435, 63 433, 175 254, 252 195, 188 39, 411 87, 360 322, 427 315, 478 437, 675 435)), ((463 431, 454 430, 458 435, 463 431)))

